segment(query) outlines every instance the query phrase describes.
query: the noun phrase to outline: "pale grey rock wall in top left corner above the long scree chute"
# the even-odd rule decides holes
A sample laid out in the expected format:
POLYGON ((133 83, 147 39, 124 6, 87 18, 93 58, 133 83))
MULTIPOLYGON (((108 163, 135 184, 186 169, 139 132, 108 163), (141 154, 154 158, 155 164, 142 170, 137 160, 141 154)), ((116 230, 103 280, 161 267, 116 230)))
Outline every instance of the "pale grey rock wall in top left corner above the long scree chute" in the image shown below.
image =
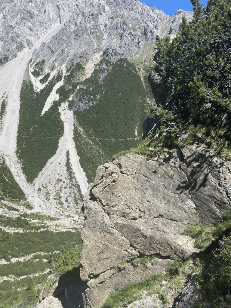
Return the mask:
POLYGON ((81 5, 80 1, 0 1, 0 58, 14 58, 31 48, 54 25, 65 22, 81 5))

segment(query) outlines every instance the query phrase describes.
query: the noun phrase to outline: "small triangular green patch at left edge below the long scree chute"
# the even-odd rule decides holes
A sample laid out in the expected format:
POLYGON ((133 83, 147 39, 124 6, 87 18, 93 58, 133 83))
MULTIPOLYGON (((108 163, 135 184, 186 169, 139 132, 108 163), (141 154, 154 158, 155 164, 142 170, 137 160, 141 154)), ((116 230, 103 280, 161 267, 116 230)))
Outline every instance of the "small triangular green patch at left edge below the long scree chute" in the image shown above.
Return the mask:
POLYGON ((0 155, 0 198, 2 200, 26 200, 25 194, 14 180, 13 174, 2 155, 0 155))

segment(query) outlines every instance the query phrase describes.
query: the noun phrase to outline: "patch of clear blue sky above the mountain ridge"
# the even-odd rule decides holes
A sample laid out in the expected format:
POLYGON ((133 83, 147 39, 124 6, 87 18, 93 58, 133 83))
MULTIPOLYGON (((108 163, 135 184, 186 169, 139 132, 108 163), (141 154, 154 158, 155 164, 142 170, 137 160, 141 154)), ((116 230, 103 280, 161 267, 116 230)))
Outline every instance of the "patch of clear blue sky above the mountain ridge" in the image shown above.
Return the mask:
MULTIPOLYGON (((156 6, 158 10, 164 11, 166 15, 172 16, 179 9, 184 11, 193 11, 193 6, 190 0, 141 0, 146 5, 152 7, 156 6)), ((208 0, 200 0, 203 6, 206 7, 208 0)))

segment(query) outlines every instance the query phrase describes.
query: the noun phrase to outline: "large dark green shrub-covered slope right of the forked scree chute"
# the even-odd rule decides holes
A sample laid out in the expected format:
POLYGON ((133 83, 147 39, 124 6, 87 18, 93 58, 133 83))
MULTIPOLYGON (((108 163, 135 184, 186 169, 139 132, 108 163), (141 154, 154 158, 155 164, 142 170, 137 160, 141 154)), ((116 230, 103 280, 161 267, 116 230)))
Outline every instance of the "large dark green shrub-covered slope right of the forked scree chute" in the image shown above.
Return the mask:
MULTIPOLYGON (((120 150, 137 147, 142 136, 147 91, 135 65, 127 59, 119 59, 100 79, 103 70, 107 71, 96 69, 93 78, 84 81, 86 89, 81 90, 83 93, 80 91, 92 96, 97 101, 95 105, 74 111, 77 123, 86 134, 83 136, 76 126, 74 140, 88 182, 93 182, 100 164, 111 160, 120 150)), ((81 97, 83 100, 83 95, 81 97)))

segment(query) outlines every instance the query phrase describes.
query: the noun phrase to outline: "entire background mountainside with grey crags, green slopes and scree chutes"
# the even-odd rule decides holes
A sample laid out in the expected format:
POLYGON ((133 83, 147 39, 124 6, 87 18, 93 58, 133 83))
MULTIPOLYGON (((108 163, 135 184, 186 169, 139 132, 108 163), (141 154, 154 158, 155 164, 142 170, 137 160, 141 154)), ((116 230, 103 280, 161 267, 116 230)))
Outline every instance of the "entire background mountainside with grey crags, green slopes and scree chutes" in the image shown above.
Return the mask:
POLYGON ((43 208, 80 210, 98 165, 137 146, 156 35, 182 15, 137 0, 2 2, 1 62, 17 58, 1 67, 1 148, 43 208))

